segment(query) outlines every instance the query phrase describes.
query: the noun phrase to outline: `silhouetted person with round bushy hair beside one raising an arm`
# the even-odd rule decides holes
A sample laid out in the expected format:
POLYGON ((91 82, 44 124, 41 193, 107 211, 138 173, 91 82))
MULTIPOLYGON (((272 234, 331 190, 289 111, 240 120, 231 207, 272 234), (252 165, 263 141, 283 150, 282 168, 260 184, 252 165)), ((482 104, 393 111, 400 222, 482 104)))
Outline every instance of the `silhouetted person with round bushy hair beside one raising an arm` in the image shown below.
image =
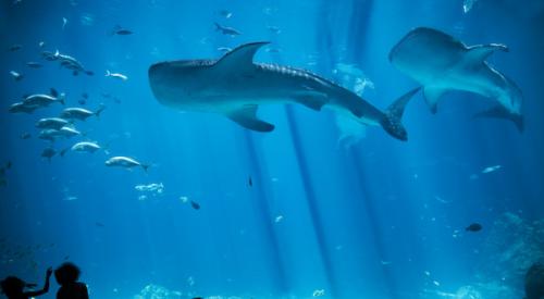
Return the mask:
POLYGON ((73 263, 63 263, 54 271, 54 278, 61 285, 57 299, 88 299, 89 292, 84 283, 77 282, 82 272, 73 263))

